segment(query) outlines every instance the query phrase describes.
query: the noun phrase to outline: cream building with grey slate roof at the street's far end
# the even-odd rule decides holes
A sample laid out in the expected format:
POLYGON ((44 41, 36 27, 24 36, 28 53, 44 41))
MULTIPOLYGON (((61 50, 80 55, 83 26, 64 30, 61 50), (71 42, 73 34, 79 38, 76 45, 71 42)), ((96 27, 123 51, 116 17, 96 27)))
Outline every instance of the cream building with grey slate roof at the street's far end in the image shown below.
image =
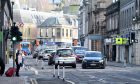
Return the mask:
POLYGON ((78 39, 78 21, 76 16, 58 15, 47 18, 41 25, 45 42, 53 42, 57 47, 70 47, 78 39))

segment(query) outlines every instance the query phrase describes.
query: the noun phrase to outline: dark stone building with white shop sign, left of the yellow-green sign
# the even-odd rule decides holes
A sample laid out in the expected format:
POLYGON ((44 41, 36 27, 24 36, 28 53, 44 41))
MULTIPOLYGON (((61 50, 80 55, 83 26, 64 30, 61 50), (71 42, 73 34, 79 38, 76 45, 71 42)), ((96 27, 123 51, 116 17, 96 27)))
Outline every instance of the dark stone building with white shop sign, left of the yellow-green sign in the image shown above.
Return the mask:
POLYGON ((119 35, 119 14, 120 2, 114 1, 106 8, 106 38, 105 55, 109 61, 119 61, 119 45, 116 45, 113 40, 119 35))

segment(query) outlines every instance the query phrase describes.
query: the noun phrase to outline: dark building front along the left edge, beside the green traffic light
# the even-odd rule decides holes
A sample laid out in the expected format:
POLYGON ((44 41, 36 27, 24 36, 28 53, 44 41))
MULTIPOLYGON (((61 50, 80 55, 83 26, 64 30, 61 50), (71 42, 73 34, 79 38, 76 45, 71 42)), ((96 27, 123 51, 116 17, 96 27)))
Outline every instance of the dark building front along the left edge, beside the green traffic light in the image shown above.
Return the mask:
POLYGON ((0 0, 0 57, 7 62, 7 39, 12 21, 10 0, 0 0))

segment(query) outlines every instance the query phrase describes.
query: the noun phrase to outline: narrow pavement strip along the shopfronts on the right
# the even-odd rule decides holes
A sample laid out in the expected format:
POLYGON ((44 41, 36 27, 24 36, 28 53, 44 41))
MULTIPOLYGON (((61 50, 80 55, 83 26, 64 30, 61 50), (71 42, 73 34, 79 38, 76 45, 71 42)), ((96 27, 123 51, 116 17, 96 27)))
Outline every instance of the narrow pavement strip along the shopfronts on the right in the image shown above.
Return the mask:
POLYGON ((118 63, 115 61, 108 61, 107 66, 115 66, 115 67, 140 67, 140 65, 135 65, 135 64, 129 64, 129 63, 118 63))

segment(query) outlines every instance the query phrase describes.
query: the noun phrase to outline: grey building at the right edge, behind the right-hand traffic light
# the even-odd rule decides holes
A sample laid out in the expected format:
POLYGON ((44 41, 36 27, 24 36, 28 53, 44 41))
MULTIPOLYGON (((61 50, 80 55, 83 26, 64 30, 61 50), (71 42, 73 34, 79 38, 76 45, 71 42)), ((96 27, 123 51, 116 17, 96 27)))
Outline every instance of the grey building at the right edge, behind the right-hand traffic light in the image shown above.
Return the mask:
POLYGON ((138 65, 140 65, 139 3, 139 0, 120 0, 120 36, 129 39, 129 45, 120 46, 120 61, 138 65))

